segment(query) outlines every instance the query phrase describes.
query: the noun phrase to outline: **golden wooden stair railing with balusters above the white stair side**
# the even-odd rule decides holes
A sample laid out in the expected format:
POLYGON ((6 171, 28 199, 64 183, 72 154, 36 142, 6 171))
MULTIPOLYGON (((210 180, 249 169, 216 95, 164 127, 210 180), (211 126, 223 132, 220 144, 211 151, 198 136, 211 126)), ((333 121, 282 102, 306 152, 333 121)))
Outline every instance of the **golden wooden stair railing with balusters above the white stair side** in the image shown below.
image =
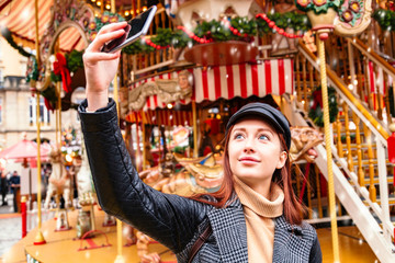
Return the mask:
MULTIPOLYGON (((319 68, 316 56, 303 43, 300 43, 300 50, 295 59, 297 90, 295 98, 300 108, 306 114, 308 98, 313 88, 319 83, 319 68), (307 68, 308 73, 305 71, 307 68)), ((366 59, 371 58, 371 56, 366 57, 366 59)), ((376 65, 381 67, 385 64, 377 61, 376 65)), ((377 108, 371 110, 369 103, 363 103, 359 99, 359 92, 350 91, 345 81, 338 77, 346 76, 343 70, 347 69, 336 68, 338 72, 335 72, 328 66, 326 72, 329 84, 336 90, 340 108, 337 121, 332 124, 334 160, 363 202, 380 218, 384 236, 391 242, 394 226, 390 218, 390 196, 394 196, 394 193, 388 192, 388 184, 393 184, 394 174, 392 164, 386 160, 386 139, 390 136, 387 126, 383 126, 386 119, 377 119, 377 108)), ((391 70, 385 72, 391 75, 391 70)))

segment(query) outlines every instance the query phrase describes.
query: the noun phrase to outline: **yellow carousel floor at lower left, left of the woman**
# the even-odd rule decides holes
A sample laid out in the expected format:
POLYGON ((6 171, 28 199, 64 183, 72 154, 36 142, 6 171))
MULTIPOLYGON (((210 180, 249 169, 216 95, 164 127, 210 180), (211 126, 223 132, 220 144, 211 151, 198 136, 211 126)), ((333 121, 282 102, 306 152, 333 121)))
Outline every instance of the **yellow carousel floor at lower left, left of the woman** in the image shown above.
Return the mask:
MULTIPOLYGON (((34 245, 36 229, 15 243, 1 258, 1 262, 16 263, 27 262, 114 262, 117 255, 116 227, 103 227, 104 211, 95 208, 95 226, 99 231, 91 239, 77 239, 76 222, 78 210, 69 211, 68 219, 71 229, 68 231, 55 231, 56 220, 43 222, 42 232, 46 240, 45 244, 34 245), (108 245, 110 244, 110 245, 108 245)), ((124 239, 124 243, 126 243, 124 239)), ((149 252, 160 254, 163 263, 176 263, 176 255, 159 243, 149 245, 149 252)), ((125 262, 139 262, 136 245, 124 247, 122 250, 125 262)))

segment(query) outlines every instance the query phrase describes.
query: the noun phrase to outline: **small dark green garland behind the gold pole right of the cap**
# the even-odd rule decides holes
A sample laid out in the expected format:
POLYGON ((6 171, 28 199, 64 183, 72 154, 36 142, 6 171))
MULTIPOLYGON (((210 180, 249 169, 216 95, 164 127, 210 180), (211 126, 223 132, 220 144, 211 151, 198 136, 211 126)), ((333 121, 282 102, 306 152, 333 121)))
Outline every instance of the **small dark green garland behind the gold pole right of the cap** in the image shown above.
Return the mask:
MULTIPOLYGON (((329 122, 334 123, 336 121, 339 110, 337 106, 336 90, 331 87, 328 87, 328 103, 329 103, 329 122)), ((318 127, 324 127, 323 94, 321 94, 320 85, 313 91, 312 96, 309 99, 308 117, 318 127)))

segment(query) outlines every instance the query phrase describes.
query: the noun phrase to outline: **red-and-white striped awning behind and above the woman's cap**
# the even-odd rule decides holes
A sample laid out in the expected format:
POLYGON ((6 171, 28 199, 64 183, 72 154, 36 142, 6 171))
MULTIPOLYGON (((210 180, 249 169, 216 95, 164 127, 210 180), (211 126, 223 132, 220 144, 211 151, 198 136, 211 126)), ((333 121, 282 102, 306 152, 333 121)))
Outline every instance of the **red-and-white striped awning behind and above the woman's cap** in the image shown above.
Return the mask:
MULTIPOLYGON (((292 59, 268 59, 258 64, 239 64, 210 68, 189 69, 193 75, 194 87, 190 100, 180 101, 188 104, 191 100, 196 103, 230 100, 233 98, 249 98, 251 95, 266 96, 268 94, 282 95, 294 92, 294 72, 292 59)), ((156 79, 177 79, 179 71, 167 72, 134 83, 134 89, 147 81, 156 79)), ((146 98, 144 111, 163 108, 167 104, 156 94, 146 98)))

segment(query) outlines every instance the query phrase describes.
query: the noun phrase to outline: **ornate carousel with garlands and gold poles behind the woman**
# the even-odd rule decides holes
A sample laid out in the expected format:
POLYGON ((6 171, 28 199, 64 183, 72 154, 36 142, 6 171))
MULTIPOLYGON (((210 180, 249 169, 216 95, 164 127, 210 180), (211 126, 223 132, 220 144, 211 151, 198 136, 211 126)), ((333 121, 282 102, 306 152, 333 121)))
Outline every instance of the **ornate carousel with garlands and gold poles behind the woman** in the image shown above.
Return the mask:
MULTIPOLYGON (((83 49, 103 25, 154 4, 149 33, 123 49, 110 87, 140 179, 169 194, 215 192, 228 118, 264 102, 292 125, 293 186, 324 262, 395 262, 394 1, 5 1, 3 35, 30 59, 32 94, 56 112, 55 145, 61 111, 76 110, 71 94, 84 87, 83 49)), ((36 224, 3 261, 177 262, 101 210, 81 140, 74 160, 48 153, 46 198, 38 176, 38 205, 22 216, 36 224)))

